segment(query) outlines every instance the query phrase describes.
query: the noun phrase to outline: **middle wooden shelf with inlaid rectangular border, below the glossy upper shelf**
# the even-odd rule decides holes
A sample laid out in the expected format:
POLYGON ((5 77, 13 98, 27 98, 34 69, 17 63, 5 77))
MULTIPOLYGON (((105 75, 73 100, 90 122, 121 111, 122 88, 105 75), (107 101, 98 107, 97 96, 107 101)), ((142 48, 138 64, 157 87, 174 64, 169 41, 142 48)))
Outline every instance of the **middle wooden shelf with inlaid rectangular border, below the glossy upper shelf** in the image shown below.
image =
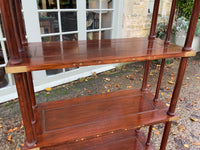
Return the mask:
POLYGON ((37 109, 37 147, 177 119, 166 112, 163 102, 153 102, 153 94, 139 89, 42 103, 37 109))

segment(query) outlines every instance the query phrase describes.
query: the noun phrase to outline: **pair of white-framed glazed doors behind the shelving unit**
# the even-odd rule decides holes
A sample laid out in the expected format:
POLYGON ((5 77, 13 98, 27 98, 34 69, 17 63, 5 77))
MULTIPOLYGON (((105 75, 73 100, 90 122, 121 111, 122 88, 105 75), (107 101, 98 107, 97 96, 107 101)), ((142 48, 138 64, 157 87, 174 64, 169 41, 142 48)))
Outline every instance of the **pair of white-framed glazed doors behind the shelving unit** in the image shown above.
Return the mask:
MULTIPOLYGON (((22 0, 29 42, 121 37, 123 0, 22 0), (121 16, 121 18, 119 18, 121 16)), ((112 69, 113 65, 33 72, 36 90, 112 69)))

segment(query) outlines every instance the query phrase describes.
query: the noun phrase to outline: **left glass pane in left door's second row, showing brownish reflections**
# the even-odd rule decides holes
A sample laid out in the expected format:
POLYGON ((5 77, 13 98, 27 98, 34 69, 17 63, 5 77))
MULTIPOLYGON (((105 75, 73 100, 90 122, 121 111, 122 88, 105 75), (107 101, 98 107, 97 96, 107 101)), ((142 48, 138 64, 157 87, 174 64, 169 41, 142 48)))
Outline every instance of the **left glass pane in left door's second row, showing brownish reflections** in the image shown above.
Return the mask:
POLYGON ((57 12, 41 12, 39 17, 41 34, 59 32, 57 12))

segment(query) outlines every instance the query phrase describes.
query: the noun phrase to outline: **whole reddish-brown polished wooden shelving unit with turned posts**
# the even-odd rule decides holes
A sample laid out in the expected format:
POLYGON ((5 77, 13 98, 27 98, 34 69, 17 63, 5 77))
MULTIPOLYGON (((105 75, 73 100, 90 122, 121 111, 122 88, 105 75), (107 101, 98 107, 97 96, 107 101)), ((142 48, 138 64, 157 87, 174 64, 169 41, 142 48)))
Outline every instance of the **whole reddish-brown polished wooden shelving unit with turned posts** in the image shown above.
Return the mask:
POLYGON ((190 56, 191 44, 200 12, 195 0, 191 22, 182 48, 169 42, 176 1, 172 1, 166 40, 155 38, 159 0, 155 0, 149 37, 28 43, 20 0, 0 0, 9 62, 7 73, 15 77, 25 127, 24 149, 127 150, 154 149, 150 143, 152 127, 165 123, 160 149, 166 148, 171 122, 178 117, 175 107, 190 56), (158 98, 165 59, 181 57, 177 80, 167 107, 158 98), (150 61, 162 59, 157 89, 147 89, 150 61), (98 64, 146 61, 141 89, 36 104, 32 71, 98 64), (147 138, 140 131, 149 126, 147 138))

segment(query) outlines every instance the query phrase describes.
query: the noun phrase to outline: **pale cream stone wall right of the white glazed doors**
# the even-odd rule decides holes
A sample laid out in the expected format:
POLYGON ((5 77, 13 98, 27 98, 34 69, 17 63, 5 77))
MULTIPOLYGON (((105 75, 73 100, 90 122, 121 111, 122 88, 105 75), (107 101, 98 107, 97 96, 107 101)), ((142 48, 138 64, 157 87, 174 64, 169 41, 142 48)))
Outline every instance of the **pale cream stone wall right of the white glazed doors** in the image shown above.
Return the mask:
MULTIPOLYGON (((148 13, 152 0, 124 0, 122 37, 146 37, 149 34, 152 13, 148 13)), ((159 16, 169 16, 171 0, 161 0, 159 16)))

